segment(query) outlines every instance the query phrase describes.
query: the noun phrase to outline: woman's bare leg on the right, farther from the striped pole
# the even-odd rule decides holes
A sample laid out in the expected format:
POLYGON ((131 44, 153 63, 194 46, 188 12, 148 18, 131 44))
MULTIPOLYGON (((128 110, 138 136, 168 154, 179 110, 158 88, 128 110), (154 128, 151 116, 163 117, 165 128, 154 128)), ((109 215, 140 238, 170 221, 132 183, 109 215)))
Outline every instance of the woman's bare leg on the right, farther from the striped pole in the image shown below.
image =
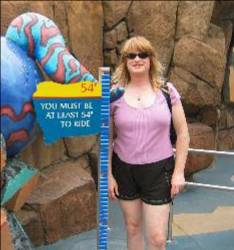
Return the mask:
POLYGON ((149 205, 143 203, 148 250, 166 249, 169 210, 169 204, 149 205))

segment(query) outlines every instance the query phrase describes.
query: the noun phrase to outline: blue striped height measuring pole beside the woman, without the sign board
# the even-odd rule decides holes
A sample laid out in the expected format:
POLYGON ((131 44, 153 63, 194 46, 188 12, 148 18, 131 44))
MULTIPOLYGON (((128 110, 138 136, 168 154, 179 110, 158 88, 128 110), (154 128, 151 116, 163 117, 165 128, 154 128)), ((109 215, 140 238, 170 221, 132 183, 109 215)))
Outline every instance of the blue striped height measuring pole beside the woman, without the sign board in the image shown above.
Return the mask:
POLYGON ((102 85, 101 133, 98 171, 98 250, 108 248, 108 165, 109 165, 109 113, 110 113, 110 69, 99 68, 99 82, 102 85))

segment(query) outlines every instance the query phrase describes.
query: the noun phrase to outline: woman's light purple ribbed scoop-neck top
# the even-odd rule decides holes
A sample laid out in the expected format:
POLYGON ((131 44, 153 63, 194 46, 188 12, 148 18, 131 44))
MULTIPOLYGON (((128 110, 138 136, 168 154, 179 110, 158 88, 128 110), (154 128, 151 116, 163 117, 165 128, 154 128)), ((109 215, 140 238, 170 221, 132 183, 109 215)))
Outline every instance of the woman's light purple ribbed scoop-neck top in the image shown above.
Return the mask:
MULTIPOLYGON (((172 83, 167 83, 171 104, 180 102, 180 95, 172 83)), ((170 141, 171 113, 167 101, 159 90, 154 103, 146 108, 127 104, 122 95, 111 103, 117 137, 113 150, 119 158, 130 164, 145 164, 173 155, 170 141)))

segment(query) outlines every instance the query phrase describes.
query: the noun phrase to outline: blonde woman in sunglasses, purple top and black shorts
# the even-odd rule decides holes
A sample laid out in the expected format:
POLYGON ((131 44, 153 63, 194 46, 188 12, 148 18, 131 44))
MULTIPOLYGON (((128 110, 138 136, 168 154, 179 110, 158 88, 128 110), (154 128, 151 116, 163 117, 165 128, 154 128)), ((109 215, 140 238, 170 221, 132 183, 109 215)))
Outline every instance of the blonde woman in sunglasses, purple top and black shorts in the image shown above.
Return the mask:
POLYGON ((174 161, 161 72, 148 40, 137 36, 126 41, 113 76, 125 92, 111 103, 109 196, 119 199, 128 250, 143 250, 143 235, 147 249, 166 248, 169 203, 185 183, 188 128, 180 95, 167 83, 177 134, 174 161))

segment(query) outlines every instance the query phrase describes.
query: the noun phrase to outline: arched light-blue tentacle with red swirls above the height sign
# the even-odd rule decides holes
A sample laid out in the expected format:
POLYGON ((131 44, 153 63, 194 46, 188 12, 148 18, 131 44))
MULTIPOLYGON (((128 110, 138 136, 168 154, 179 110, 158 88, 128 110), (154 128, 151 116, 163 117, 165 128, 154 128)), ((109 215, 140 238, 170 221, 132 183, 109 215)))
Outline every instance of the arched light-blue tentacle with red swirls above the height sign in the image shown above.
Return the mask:
POLYGON ((65 45, 57 25, 49 18, 29 12, 16 17, 6 32, 55 82, 94 82, 94 76, 75 58, 65 45))

